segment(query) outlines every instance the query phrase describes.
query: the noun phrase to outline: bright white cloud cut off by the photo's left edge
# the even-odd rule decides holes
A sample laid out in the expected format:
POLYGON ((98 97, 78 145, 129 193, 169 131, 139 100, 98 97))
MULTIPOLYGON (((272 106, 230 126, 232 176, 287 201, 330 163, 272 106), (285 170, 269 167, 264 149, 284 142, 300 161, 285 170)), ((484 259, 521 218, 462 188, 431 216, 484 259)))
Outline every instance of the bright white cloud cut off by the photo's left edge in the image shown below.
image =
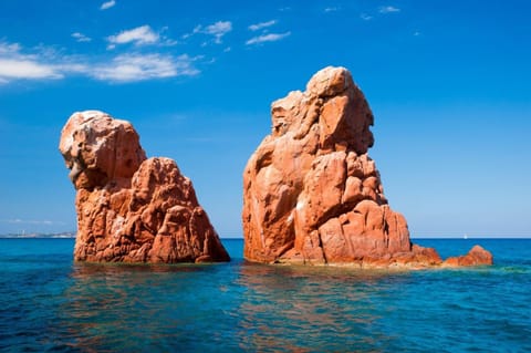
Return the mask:
POLYGON ((18 43, 0 42, 0 82, 63 77, 56 65, 44 62, 39 55, 23 54, 21 50, 18 43))

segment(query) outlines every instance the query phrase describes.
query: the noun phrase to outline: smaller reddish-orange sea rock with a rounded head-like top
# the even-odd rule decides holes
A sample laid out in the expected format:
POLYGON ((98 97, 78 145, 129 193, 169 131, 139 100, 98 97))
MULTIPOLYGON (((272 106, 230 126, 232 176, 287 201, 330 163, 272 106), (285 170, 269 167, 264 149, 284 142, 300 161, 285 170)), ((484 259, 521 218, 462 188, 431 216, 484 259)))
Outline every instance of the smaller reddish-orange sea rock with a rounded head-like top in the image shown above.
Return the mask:
POLYGON ((87 111, 59 149, 76 189, 77 261, 229 261, 191 181, 169 158, 146 159, 131 123, 87 111))

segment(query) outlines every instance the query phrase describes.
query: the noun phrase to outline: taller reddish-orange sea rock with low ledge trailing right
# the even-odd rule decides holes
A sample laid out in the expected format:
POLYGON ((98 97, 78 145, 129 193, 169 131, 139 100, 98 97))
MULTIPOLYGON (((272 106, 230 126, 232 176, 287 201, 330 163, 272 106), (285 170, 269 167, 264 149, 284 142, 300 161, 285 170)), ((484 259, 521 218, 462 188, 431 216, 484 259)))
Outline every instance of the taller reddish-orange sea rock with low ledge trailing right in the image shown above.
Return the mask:
MULTIPOLYGON (((435 249, 412 245, 406 219, 387 205, 367 155, 373 114, 347 70, 321 70, 305 92, 273 102, 271 114, 272 133, 243 173, 246 259, 361 267, 442 263, 435 249)), ((447 264, 489 262, 473 259, 447 264)))

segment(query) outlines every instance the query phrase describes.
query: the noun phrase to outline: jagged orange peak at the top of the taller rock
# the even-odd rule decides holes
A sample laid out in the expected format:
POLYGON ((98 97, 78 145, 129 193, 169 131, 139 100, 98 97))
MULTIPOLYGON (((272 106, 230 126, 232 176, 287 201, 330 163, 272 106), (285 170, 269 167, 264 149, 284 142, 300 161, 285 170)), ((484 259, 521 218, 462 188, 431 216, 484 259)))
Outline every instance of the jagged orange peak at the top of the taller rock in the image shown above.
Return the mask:
POLYGON ((271 112, 274 137, 291 133, 301 139, 316 128, 320 149, 352 149, 357 154, 366 153, 374 143, 369 131, 373 113, 344 68, 319 71, 305 92, 294 91, 273 102, 271 112))

